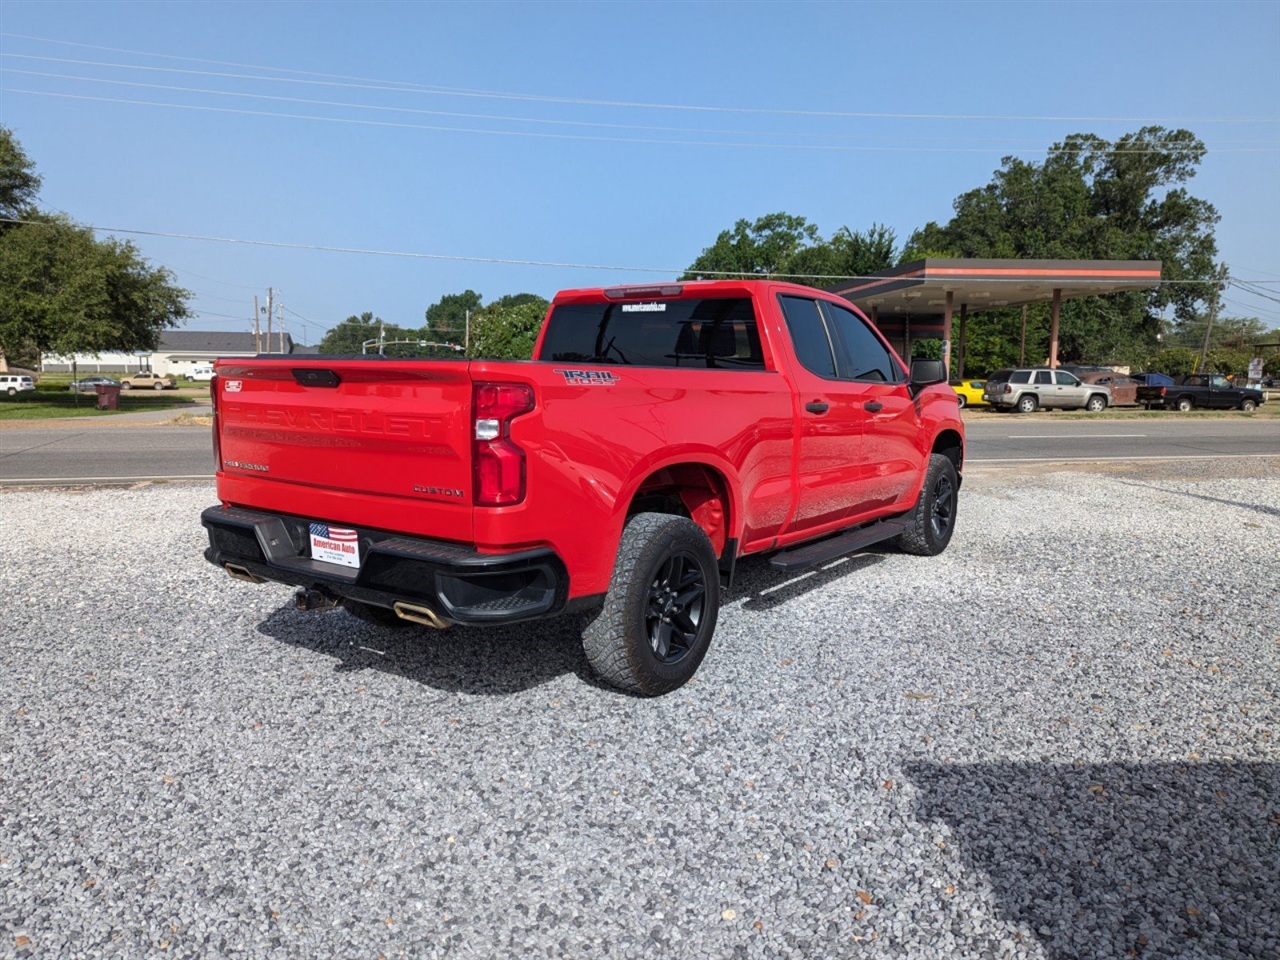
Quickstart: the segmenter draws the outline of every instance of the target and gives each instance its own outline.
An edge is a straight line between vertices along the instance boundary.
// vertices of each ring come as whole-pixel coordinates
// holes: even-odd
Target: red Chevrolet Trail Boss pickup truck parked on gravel
[[[220,360],[206,558],[383,623],[598,611],[594,669],[701,663],[735,563],[951,539],[964,426],[846,301],[787,283],[566,291],[531,361]]]

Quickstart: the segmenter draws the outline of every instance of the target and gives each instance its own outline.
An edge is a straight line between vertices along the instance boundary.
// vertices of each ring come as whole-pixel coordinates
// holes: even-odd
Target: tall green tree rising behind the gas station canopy
[[[1114,142],[1071,134],[1043,163],[1005,157],[987,186],[956,198],[946,225],[928,223],[913,233],[904,256],[1158,259],[1164,279],[1179,283],[1064,303],[1059,356],[1103,361],[1152,353],[1160,312],[1172,306],[1175,317],[1189,321],[1215,291],[1219,215],[1183,186],[1203,155],[1204,145],[1183,129],[1143,127]],[[1028,360],[1046,352],[1044,315],[1032,310]],[[1016,361],[1009,355],[1016,353],[1020,325],[1020,310],[973,317],[966,369]],[[988,337],[973,337],[984,328]],[[1004,344],[1000,356],[975,348],[983,339]]]

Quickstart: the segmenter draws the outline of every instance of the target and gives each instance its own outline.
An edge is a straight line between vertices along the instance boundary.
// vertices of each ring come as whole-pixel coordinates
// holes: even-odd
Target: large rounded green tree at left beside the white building
[[[155,349],[188,316],[187,291],[128,242],[99,241],[67,218],[0,234],[0,355]]]

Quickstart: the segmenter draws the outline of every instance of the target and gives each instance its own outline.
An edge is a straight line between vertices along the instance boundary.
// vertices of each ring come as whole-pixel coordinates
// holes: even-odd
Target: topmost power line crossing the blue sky
[[[375,90],[397,90],[402,92],[411,93],[428,93],[435,96],[466,96],[466,97],[484,97],[494,100],[517,100],[526,102],[539,102],[539,104],[572,104],[577,106],[613,106],[613,108],[626,108],[626,109],[643,109],[643,110],[686,110],[698,113],[733,113],[733,114],[763,114],[774,116],[820,116],[820,118],[850,118],[850,119],[892,119],[892,120],[1000,120],[1000,122],[1036,122],[1036,123],[1280,123],[1280,116],[1019,116],[1019,115],[991,115],[991,114],[914,114],[914,113],[884,113],[884,111],[847,111],[847,110],[785,110],[776,108],[760,108],[760,106],[709,106],[701,104],[660,104],[660,102],[640,102],[630,100],[594,100],[588,97],[553,97],[541,96],[534,93],[513,93],[506,91],[492,91],[492,90],[468,90],[463,87],[443,87],[436,84],[422,84],[412,83],[408,81],[384,81],[369,77],[349,77],[344,74],[333,73],[317,73],[314,70],[293,70],[280,67],[260,67],[256,64],[243,64],[227,60],[205,60],[200,58],[179,56],[174,54],[152,54],[143,50],[123,50],[119,47],[105,47],[96,46],[92,44],[78,44],[74,41],[52,40],[49,37],[35,37],[22,33],[0,33],[0,36],[12,37],[14,40],[32,40],[36,42],[45,44],[61,44],[67,46],[78,46],[93,50],[104,50],[118,54],[129,54],[132,56],[152,56],[163,58],[166,60],[178,60],[186,63],[205,63],[219,67],[233,67],[236,69],[248,69],[248,70],[271,70],[276,73],[294,73],[300,74],[300,78],[289,77],[266,77],[266,78],[246,78],[246,79],[276,79],[282,82],[293,83],[311,83],[320,86],[364,86],[371,84]],[[45,59],[55,60],[61,63],[86,63],[91,64],[93,61],[72,60],[72,59],[59,59],[59,58],[28,58],[28,59]],[[200,73],[197,70],[180,70],[177,68],[163,68],[163,67],[145,67],[145,65],[125,65],[125,64],[97,64],[105,67],[123,67],[127,69],[147,69],[147,70],[165,70],[179,72],[179,73]],[[206,72],[209,76],[221,76],[221,77],[234,77],[236,74],[227,73],[214,73]],[[301,79],[301,77],[320,77],[320,79]]]

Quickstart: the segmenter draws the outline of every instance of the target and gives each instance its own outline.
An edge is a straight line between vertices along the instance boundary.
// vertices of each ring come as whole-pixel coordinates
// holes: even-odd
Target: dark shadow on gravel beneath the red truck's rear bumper
[[[582,653],[582,630],[590,620],[572,614],[506,627],[433,630],[379,627],[343,609],[307,613],[280,607],[257,630],[333,657],[335,671],[378,669],[448,692],[503,695],[564,673],[602,686]]]

